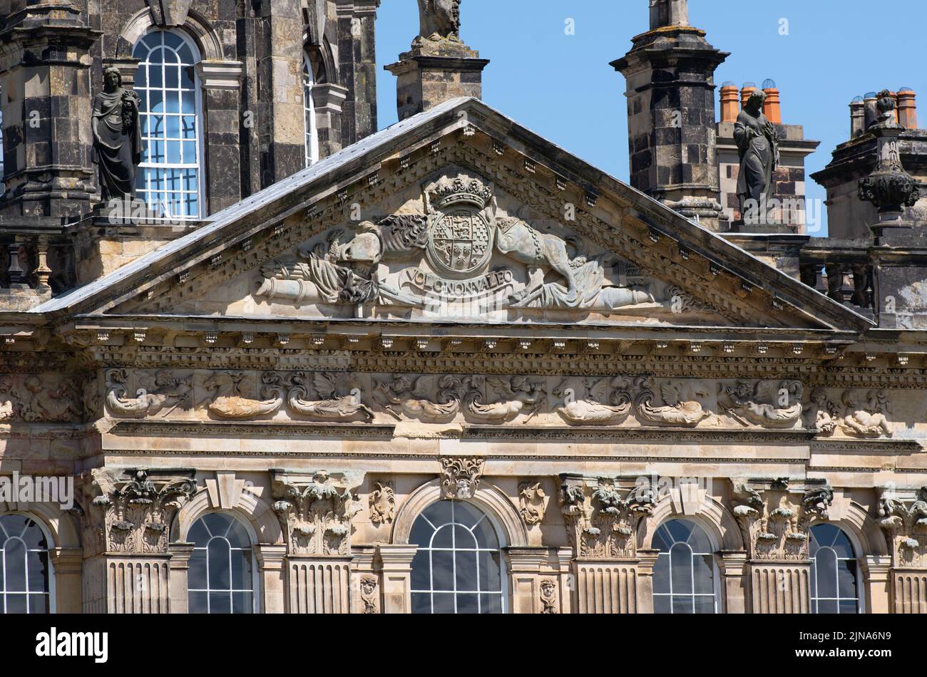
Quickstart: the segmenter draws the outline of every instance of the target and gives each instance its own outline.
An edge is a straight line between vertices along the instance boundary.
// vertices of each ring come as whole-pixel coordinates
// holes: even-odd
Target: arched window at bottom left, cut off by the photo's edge
[[[0,517],[0,613],[48,613],[48,543],[23,515]]]

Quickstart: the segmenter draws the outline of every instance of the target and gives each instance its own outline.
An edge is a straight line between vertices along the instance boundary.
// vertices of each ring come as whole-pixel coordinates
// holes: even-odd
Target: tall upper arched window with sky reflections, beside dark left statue
[[[142,100],[145,153],[137,193],[165,219],[201,219],[202,124],[197,48],[179,31],[151,31],[133,52],[141,59],[135,92]]]

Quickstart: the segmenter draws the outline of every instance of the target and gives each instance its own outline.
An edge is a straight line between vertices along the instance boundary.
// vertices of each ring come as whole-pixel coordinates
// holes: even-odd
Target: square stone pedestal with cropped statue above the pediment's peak
[[[421,30],[412,49],[384,68],[396,76],[396,107],[400,120],[458,96],[481,98],[483,69],[479,58],[460,37],[461,0],[418,0]]]

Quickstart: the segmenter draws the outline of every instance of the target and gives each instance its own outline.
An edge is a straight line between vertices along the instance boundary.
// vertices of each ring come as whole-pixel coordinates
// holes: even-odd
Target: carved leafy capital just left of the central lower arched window
[[[354,491],[362,479],[349,472],[271,470],[273,510],[283,524],[291,554],[350,554],[350,520],[361,509]]]

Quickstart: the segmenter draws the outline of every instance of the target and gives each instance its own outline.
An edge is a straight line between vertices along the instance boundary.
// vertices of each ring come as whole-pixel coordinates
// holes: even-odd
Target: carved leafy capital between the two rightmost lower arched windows
[[[756,560],[808,557],[808,529],[813,520],[828,520],[833,489],[824,481],[732,481],[731,509],[749,556]]]

